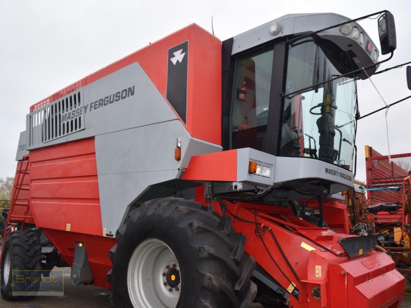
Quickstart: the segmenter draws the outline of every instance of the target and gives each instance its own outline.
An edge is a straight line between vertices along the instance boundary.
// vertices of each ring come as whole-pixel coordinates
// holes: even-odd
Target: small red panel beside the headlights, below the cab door
[[[237,150],[192,157],[183,180],[237,181]]]

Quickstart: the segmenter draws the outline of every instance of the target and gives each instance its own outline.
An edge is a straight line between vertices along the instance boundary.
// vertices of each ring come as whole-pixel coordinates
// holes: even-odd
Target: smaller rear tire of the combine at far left
[[[30,275],[39,275],[33,271],[40,271],[42,248],[40,239],[31,230],[18,230],[6,237],[2,251],[2,268],[0,270],[0,291],[6,300],[31,298],[32,296],[13,296],[12,273],[15,270],[30,271]],[[15,287],[14,291],[35,292],[38,284],[28,285],[24,290]]]

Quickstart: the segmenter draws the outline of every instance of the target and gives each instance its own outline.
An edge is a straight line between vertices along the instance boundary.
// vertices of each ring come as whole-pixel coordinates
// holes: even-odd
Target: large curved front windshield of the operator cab
[[[289,45],[279,154],[320,159],[352,170],[356,80],[341,73],[312,38]]]

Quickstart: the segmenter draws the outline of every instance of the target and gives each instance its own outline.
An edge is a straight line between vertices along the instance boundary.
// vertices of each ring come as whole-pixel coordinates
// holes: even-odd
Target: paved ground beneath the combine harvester
[[[1,308],[110,308],[110,291],[91,285],[72,286],[70,268],[65,267],[64,296],[38,296],[30,300],[5,301],[0,296]],[[375,307],[377,308],[377,307]],[[411,308],[411,295],[405,296],[401,308]]]

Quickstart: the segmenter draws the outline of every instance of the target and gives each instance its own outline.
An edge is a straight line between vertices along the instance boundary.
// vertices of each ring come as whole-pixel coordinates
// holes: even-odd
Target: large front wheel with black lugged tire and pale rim
[[[183,199],[145,202],[116,234],[107,275],[116,307],[248,307],[255,261],[229,217]]]

